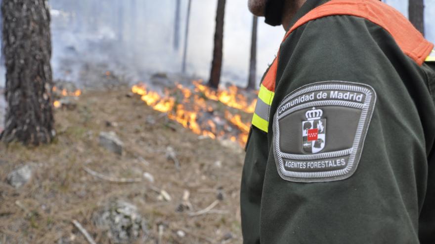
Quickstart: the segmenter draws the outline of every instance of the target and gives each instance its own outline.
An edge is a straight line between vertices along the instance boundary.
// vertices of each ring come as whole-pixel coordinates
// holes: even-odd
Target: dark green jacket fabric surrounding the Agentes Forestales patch
[[[306,1],[291,26],[325,2]],[[364,18],[327,16],[296,29],[281,44],[268,133],[253,126],[246,147],[244,243],[434,244],[434,70],[431,62],[418,65],[389,32]],[[289,94],[323,81],[358,83],[376,95],[367,104],[373,108],[357,167],[345,178],[286,180],[274,155],[273,115]],[[332,120],[326,120],[327,134],[346,125]]]

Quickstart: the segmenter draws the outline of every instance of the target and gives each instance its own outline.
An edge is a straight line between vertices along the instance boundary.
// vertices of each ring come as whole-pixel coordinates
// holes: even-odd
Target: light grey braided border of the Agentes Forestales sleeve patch
[[[288,101],[304,94],[307,92],[316,92],[323,90],[341,90],[341,91],[349,91],[349,92],[359,92],[365,94],[364,103],[355,103],[350,101],[341,101],[341,100],[322,100],[322,101],[314,101],[304,103],[302,105],[296,105],[283,114],[279,115],[278,110],[279,107],[286,104]],[[329,182],[329,181],[337,181],[344,180],[350,177],[358,167],[358,163],[361,157],[362,149],[364,147],[365,137],[367,135],[368,127],[370,126],[370,121],[372,119],[374,106],[376,104],[376,92],[373,87],[356,82],[348,82],[348,81],[321,81],[311,83],[305,86],[302,86],[295,91],[291,92],[287,95],[283,101],[278,105],[276,112],[273,116],[273,137],[272,137],[272,147],[273,147],[273,155],[275,158],[275,164],[277,167],[278,174],[284,180],[292,181],[292,182]],[[316,153],[316,154],[289,154],[284,153],[280,150],[279,145],[279,126],[277,121],[290,113],[295,111],[299,111],[309,107],[318,107],[318,106],[346,106],[346,107],[354,107],[361,109],[361,116],[358,121],[358,127],[355,133],[355,137],[353,139],[352,147],[340,151],[333,152],[324,152],[324,153]],[[318,159],[327,159],[341,156],[349,156],[348,165],[345,169],[335,170],[335,171],[323,171],[323,172],[295,172],[295,171],[287,171],[284,168],[283,157],[286,159],[293,160],[318,160]]]

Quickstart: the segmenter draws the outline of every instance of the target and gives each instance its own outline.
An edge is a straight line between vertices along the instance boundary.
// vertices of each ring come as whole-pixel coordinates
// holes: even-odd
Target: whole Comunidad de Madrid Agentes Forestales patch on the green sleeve
[[[273,119],[279,175],[294,182],[343,180],[356,170],[376,103],[372,87],[344,81],[297,89]]]

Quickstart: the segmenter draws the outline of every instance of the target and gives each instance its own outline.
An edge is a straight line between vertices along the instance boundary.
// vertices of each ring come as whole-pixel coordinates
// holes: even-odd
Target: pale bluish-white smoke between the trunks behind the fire
[[[90,62],[105,63],[107,69],[128,73],[135,80],[146,79],[146,75],[154,72],[181,70],[187,0],[181,0],[178,50],[173,45],[174,0],[52,0],[50,4],[54,78],[77,80],[80,67]],[[212,61],[216,6],[216,0],[192,1],[187,72],[204,79],[208,79]],[[246,85],[251,25],[252,15],[246,2],[228,0],[223,81]],[[261,23],[258,32],[260,82],[284,31]]]

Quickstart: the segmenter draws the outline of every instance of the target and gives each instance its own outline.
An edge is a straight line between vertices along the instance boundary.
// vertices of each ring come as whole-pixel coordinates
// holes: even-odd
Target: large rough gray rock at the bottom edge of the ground
[[[147,237],[146,220],[137,207],[123,200],[110,200],[93,213],[97,228],[107,233],[111,243],[133,243]]]

